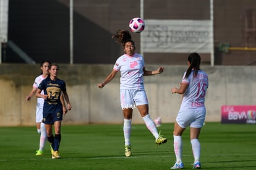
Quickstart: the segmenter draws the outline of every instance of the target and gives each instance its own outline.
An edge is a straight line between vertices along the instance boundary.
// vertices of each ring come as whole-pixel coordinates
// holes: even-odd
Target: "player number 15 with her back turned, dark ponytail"
[[[200,130],[205,121],[205,95],[208,88],[208,75],[200,69],[201,57],[197,53],[189,54],[187,71],[184,73],[179,88],[172,88],[172,93],[182,95],[182,104],[177,114],[173,130],[173,145],[176,163],[171,169],[182,169],[182,134],[190,126],[190,143],[194,155],[193,169],[200,169]]]

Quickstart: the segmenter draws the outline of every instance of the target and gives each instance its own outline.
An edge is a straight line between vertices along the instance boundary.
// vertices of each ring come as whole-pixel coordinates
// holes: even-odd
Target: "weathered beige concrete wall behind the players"
[[[148,65],[155,70],[158,66]],[[72,111],[64,116],[64,124],[121,124],[123,121],[119,101],[119,74],[100,89],[113,65],[68,65],[60,64],[59,78],[66,81]],[[146,76],[150,116],[161,116],[163,122],[174,122],[181,95],[171,94],[178,87],[187,66],[164,66],[164,73]],[[221,106],[254,105],[256,103],[255,66],[202,66],[209,76],[206,96],[207,122],[221,121]],[[36,98],[25,101],[32,89],[35,77],[40,74],[39,65],[0,65],[0,126],[34,125]],[[143,123],[137,109],[134,123]]]

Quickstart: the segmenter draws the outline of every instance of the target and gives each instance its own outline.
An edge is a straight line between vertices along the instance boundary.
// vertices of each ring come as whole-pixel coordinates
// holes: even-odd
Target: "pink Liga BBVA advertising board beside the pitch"
[[[256,124],[256,105],[221,106],[221,123]]]

